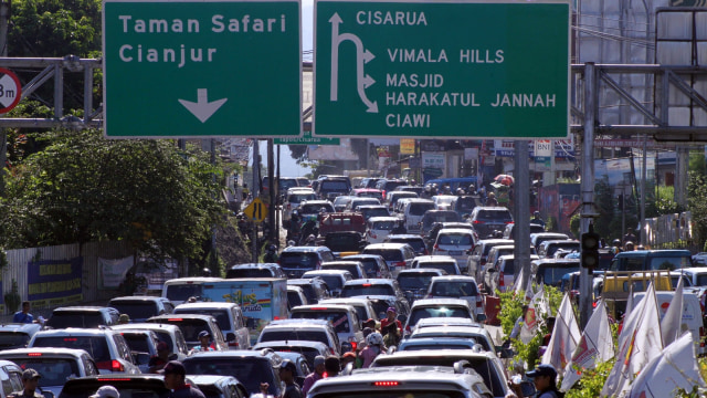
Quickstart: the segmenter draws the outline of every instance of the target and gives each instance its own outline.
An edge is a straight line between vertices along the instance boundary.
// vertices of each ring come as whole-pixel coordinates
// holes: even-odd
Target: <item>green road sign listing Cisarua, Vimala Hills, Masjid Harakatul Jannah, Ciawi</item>
[[[570,4],[315,0],[313,132],[567,137]]]

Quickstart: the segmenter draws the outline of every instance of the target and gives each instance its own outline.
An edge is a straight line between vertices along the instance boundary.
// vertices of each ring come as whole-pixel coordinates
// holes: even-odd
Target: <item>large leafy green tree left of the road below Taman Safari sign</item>
[[[101,130],[45,139],[8,177],[7,249],[127,240],[154,258],[196,258],[222,219],[218,170],[203,154],[180,154],[167,139],[107,140]]]

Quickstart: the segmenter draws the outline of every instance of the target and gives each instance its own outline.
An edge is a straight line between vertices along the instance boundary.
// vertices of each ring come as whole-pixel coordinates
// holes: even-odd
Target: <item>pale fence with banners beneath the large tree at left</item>
[[[2,294],[0,296],[11,292],[13,282],[17,282],[20,298],[32,302],[32,313],[35,316],[46,314],[51,308],[61,304],[107,302],[116,295],[117,291],[99,289],[102,275],[98,258],[123,259],[129,255],[135,255],[134,249],[124,241],[8,250],[8,266],[1,272]],[[62,274],[70,274],[76,264],[80,264],[80,277],[75,275],[66,283],[59,281],[60,284],[55,284],[57,280],[62,279]],[[54,280],[54,282],[34,283],[38,277]],[[33,282],[32,286],[30,286],[31,281]],[[62,295],[62,289],[72,292],[72,294]],[[46,300],[32,300],[31,297],[43,294],[55,295],[55,297]],[[4,301],[3,304],[4,313],[12,313],[13,308],[7,307]]]

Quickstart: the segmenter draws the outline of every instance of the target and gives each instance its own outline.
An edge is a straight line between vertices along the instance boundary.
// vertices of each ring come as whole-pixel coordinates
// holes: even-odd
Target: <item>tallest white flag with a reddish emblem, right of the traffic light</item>
[[[651,283],[643,300],[635,304],[624,321],[616,363],[601,390],[602,397],[625,397],[636,375],[651,359],[661,355],[663,339],[656,325],[659,325],[658,306],[655,287]]]

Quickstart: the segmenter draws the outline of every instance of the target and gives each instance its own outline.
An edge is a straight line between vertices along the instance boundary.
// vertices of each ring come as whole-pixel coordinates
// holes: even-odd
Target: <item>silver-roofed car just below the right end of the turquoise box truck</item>
[[[263,327],[257,344],[282,341],[319,342],[329,348],[329,354],[341,355],[339,337],[329,321],[277,320]]]

